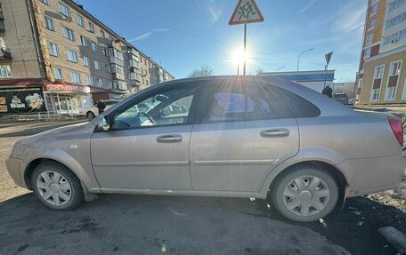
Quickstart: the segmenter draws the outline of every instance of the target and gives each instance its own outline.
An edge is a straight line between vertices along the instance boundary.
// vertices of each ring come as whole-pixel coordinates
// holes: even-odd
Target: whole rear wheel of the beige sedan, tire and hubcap
[[[270,187],[271,202],[276,210],[287,219],[301,222],[327,216],[336,207],[338,195],[336,180],[313,164],[282,171]]]

